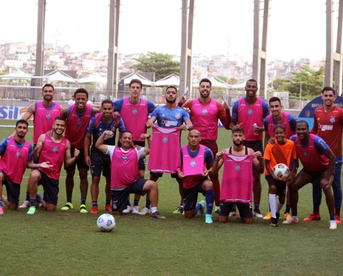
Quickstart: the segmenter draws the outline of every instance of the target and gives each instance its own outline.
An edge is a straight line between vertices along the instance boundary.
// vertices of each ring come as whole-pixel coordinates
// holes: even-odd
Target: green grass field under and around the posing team
[[[13,124],[0,120],[0,124]],[[32,124],[32,123],[31,123]],[[2,128],[1,137],[13,132]],[[231,133],[220,129],[220,149],[232,144]],[[1,139],[2,139],[1,138]],[[27,140],[32,140],[30,129]],[[186,138],[182,137],[183,144]],[[25,196],[29,170],[22,188]],[[149,173],[146,172],[149,177]],[[1,275],[342,275],[342,225],[329,230],[329,214],[322,198],[321,221],[304,222],[312,212],[311,184],[299,192],[299,223],[272,228],[269,221],[254,219],[252,225],[229,218],[229,223],[205,225],[204,216],[187,220],[173,214],[179,204],[178,185],[169,175],[159,179],[158,209],[166,220],[150,216],[116,216],[116,228],[102,233],[98,215],[80,214],[79,180],[75,176],[74,209],[61,211],[66,202],[62,170],[56,212],[38,209],[10,211],[0,217]],[[262,179],[261,211],[268,211],[268,184]],[[90,173],[88,176],[91,184]],[[104,206],[104,181],[100,182],[99,209]],[[42,187],[38,191],[42,194]],[[4,188],[5,194],[5,188]],[[199,194],[199,200],[202,195]],[[131,196],[133,200],[133,196]],[[141,198],[143,208],[145,197]],[[91,210],[88,189],[87,208]],[[284,209],[282,210],[283,213]]]

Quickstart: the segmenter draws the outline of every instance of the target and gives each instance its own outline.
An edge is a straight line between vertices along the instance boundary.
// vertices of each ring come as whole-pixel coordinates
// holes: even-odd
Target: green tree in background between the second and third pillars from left
[[[170,74],[180,74],[180,63],[173,61],[173,55],[148,52],[146,57],[135,58],[139,64],[131,66],[135,71],[154,72],[155,80],[162,79]]]

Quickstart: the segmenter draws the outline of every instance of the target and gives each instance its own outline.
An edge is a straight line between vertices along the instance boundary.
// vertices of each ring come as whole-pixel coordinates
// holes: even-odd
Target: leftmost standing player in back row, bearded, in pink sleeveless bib
[[[58,103],[53,102],[55,96],[55,89],[52,84],[47,83],[42,88],[43,101],[31,104],[24,115],[23,120],[28,120],[33,117],[33,148],[37,144],[38,137],[51,130],[52,124],[57,116],[60,116],[63,111],[63,107]],[[14,136],[13,133],[12,136]],[[37,195],[39,198],[40,196]],[[25,201],[19,208],[30,207],[30,196],[28,193],[28,186],[26,185],[26,197]]]

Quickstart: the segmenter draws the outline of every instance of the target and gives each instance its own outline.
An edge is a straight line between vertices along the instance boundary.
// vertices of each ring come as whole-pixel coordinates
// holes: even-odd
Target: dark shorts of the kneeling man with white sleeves
[[[138,178],[135,182],[122,190],[111,190],[112,212],[119,212],[127,207],[129,194],[139,194],[144,196],[147,191],[143,187],[147,179]]]

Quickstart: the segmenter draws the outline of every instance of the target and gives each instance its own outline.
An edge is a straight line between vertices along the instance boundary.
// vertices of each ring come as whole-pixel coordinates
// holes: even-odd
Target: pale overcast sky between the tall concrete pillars
[[[1,0],[0,42],[36,43],[37,2]],[[180,55],[180,0],[120,2],[119,52]],[[268,61],[325,59],[325,2],[270,1]],[[229,53],[230,60],[235,54],[252,60],[253,0],[196,0],[195,5],[193,54]],[[338,4],[334,4],[335,26],[337,10]],[[45,42],[57,40],[59,46],[70,45],[72,51],[100,50],[106,54],[108,20],[109,0],[47,0]]]

